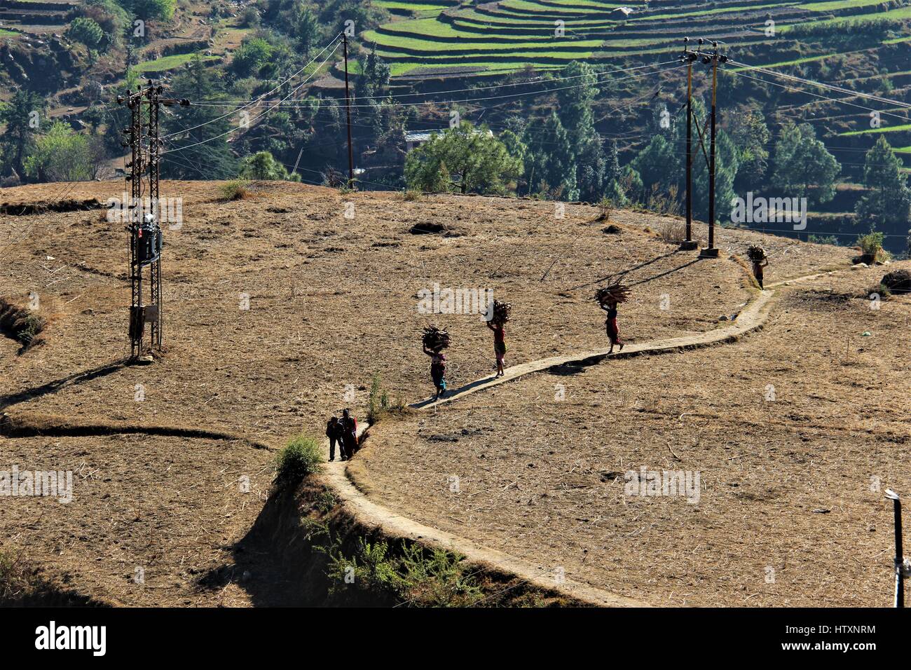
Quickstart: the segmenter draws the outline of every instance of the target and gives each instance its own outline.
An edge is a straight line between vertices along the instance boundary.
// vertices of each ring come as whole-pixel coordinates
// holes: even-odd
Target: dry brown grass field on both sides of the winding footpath
[[[162,183],[183,198],[184,222],[165,231],[165,352],[151,366],[124,365],[122,223],[98,210],[0,218],[0,297],[37,295],[48,322],[22,353],[0,337],[0,411],[33,433],[0,436],[0,464],[78,473],[69,504],[5,499],[0,551],[104,602],[261,602],[255,570],[218,588],[202,577],[233,562],[268,495],[274,449],[322,435],[342,407],[363,418],[374,373],[392,397],[426,397],[424,325],[453,335],[451,386],[493,371],[480,317],[419,314],[421,289],[488,288],[512,303],[507,365],[604,346],[591,295],[609,275],[634,284],[620,317],[629,342],[711,330],[756,293],[740,264],[677,252],[658,234],[670,220],[647,213],[599,221],[597,208],[567,205],[558,218],[553,202],[406,201],[290,183],[220,201],[219,186]],[[3,191],[0,204],[121,191],[30,186]],[[762,238],[767,283],[852,255],[719,237],[725,256]],[[870,477],[904,490],[911,481],[908,299],[874,313],[856,297],[882,273],[783,287],[770,324],[734,345],[537,374],[389,419],[354,475],[417,521],[546,555],[568,576],[650,603],[885,602],[891,526]],[[610,475],[630,463],[701,470],[701,502],[624,497]],[[461,479],[455,497],[450,475]]]

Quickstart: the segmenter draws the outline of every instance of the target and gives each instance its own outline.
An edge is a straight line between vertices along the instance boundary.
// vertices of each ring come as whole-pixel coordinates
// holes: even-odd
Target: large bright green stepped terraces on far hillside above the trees
[[[379,0],[393,18],[361,38],[376,46],[397,77],[485,75],[528,66],[555,69],[580,59],[596,64],[655,60],[655,55],[679,51],[683,36],[722,40],[728,48],[773,46],[793,26],[909,19],[911,6],[904,2]],[[775,34],[766,35],[771,26]]]

